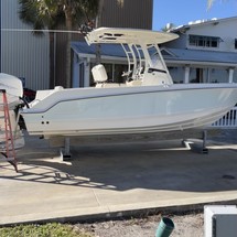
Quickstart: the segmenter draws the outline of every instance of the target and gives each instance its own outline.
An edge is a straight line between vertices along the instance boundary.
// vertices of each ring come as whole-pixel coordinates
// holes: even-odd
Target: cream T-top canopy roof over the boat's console
[[[161,44],[177,39],[177,34],[126,28],[99,28],[86,35],[88,44]]]

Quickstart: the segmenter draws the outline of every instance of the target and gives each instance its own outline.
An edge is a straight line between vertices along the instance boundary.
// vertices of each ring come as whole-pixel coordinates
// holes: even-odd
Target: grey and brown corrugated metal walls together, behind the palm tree
[[[1,1],[2,29],[28,29],[30,26],[19,20],[18,0]],[[117,0],[105,0],[103,25],[120,28],[152,28],[153,0],[125,0],[123,8]],[[77,30],[77,29],[76,29]],[[65,86],[65,39],[66,33],[55,33],[55,74],[50,83],[50,41],[45,33],[35,37],[31,32],[1,32],[2,73],[25,78],[25,86],[32,89],[46,89],[50,86]],[[73,40],[78,40],[73,34]]]

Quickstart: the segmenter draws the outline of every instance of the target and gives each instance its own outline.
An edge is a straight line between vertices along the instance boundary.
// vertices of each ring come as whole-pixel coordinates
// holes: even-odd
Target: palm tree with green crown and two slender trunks
[[[80,25],[84,21],[95,19],[98,11],[98,0],[19,0],[20,19],[31,24],[34,30],[54,30],[65,25],[67,31],[66,43],[66,87],[71,87],[71,41],[74,25]],[[54,34],[50,31],[50,40]],[[51,52],[52,52],[51,43]],[[51,55],[51,79],[53,79]]]

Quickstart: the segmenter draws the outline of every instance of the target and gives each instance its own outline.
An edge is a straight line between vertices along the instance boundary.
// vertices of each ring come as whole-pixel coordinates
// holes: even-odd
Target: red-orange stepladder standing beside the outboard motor
[[[18,161],[15,158],[14,140],[12,134],[11,118],[9,114],[9,104],[6,89],[0,89],[0,94],[2,94],[2,109],[4,119],[4,128],[1,128],[4,137],[4,146],[1,148],[0,152],[4,157],[3,160],[12,164],[14,170],[18,172]]]

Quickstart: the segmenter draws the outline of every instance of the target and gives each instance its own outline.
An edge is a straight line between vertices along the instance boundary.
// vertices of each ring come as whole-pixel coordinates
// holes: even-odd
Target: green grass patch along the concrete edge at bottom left
[[[0,228],[1,237],[91,237],[72,225],[49,223],[45,225],[19,225]]]

